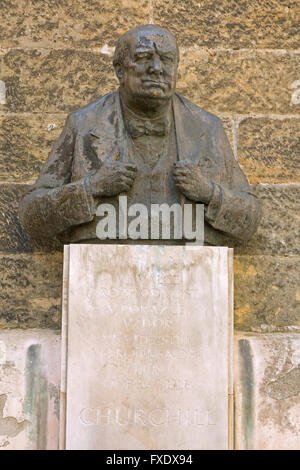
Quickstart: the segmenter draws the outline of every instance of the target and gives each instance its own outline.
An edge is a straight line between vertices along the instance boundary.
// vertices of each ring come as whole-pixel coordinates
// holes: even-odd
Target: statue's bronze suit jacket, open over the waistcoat
[[[205,244],[224,245],[224,236],[247,240],[256,231],[260,206],[219,118],[178,93],[173,97],[173,116],[177,159],[199,164],[215,183],[205,207]],[[118,155],[121,161],[128,161],[126,141],[118,91],[71,113],[38,180],[20,203],[20,220],[26,231],[40,238],[70,229],[71,242],[100,242],[96,205],[110,202],[110,198],[95,200],[87,177],[107,158]]]

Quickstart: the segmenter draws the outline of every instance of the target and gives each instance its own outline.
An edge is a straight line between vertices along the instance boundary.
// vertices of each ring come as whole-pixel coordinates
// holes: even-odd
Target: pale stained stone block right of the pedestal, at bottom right
[[[300,450],[300,335],[235,340],[235,448]]]

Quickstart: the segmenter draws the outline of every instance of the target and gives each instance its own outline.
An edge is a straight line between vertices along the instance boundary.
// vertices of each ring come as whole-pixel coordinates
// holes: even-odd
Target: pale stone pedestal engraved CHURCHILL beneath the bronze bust
[[[232,446],[232,250],[65,249],[60,447]]]

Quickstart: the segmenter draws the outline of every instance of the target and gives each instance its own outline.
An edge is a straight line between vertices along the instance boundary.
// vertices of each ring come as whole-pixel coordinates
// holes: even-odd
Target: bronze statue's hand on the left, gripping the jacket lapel
[[[93,196],[116,196],[128,191],[136,177],[135,163],[106,160],[101,168],[91,176],[90,184]]]

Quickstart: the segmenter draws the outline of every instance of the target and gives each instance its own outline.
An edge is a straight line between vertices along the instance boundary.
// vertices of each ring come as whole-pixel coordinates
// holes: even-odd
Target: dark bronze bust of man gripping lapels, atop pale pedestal
[[[33,237],[68,233],[96,239],[101,201],[202,203],[205,243],[249,239],[259,201],[235,160],[220,119],[175,92],[179,50],[173,34],[136,27],[116,45],[120,87],[71,113],[39,178],[20,203]]]

